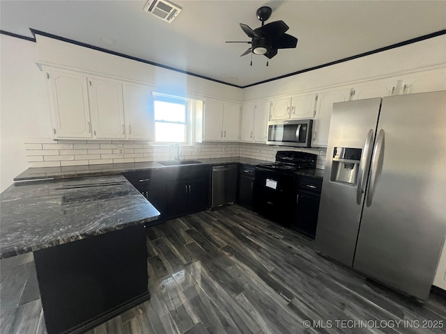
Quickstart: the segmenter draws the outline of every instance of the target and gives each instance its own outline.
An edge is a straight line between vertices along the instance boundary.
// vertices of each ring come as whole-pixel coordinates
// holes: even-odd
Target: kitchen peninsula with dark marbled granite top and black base
[[[159,212],[122,175],[3,191],[0,258],[33,252],[47,333],[83,333],[149,299],[144,226]]]

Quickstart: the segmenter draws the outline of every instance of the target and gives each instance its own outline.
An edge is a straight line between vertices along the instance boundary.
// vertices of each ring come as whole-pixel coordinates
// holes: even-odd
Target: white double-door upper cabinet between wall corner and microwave
[[[240,141],[266,143],[270,102],[245,104],[242,108]]]

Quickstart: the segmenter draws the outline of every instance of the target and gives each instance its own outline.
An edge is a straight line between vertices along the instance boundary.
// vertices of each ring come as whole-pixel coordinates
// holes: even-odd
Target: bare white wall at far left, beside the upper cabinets
[[[28,168],[24,137],[50,137],[49,107],[36,43],[0,35],[0,191]]]

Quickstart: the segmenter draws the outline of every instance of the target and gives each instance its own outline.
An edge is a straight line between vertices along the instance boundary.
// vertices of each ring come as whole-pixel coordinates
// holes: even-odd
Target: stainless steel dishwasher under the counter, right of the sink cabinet
[[[236,201],[238,165],[212,168],[212,207]]]

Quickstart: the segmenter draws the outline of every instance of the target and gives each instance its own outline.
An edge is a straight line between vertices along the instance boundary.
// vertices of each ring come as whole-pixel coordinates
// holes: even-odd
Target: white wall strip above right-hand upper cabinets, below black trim
[[[446,35],[243,89],[243,101],[262,100],[353,81],[392,77],[446,64]]]

